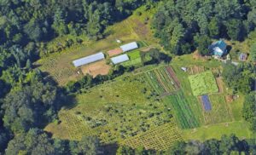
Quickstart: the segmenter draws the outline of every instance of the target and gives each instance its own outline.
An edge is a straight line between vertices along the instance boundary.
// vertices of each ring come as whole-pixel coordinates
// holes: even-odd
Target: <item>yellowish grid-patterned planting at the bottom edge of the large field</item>
[[[146,149],[167,150],[174,142],[182,140],[176,123],[172,122],[148,130],[142,135],[129,138],[121,144],[132,148],[144,146]]]

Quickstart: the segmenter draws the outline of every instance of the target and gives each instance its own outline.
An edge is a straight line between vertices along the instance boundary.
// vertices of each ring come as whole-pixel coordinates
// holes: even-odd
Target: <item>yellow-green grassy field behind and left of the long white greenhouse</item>
[[[157,40],[153,37],[153,33],[150,30],[151,18],[155,10],[149,9],[144,11],[144,9],[145,7],[137,9],[137,11],[143,12],[140,16],[135,13],[126,20],[109,26],[105,31],[106,38],[99,41],[92,41],[83,37],[84,42],[82,44],[65,49],[61,53],[50,54],[38,60],[35,65],[39,66],[43,72],[49,72],[49,75],[53,77],[57,83],[65,85],[69,81],[81,78],[81,76],[77,74],[77,69],[72,64],[73,60],[100,51],[107,52],[110,49],[116,49],[120,46],[119,43],[116,43],[117,38],[123,43],[138,41],[139,44],[143,43],[143,45],[157,44]],[[149,20],[145,24],[144,20],[146,18]],[[70,38],[70,36],[68,36],[68,38]],[[66,38],[57,37],[49,44],[59,43],[62,39]]]

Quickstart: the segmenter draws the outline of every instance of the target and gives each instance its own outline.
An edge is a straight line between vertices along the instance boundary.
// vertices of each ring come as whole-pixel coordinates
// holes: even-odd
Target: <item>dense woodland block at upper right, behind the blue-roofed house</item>
[[[165,1],[154,15],[154,35],[174,55],[197,48],[206,55],[211,38],[244,40],[256,26],[255,14],[255,0]]]

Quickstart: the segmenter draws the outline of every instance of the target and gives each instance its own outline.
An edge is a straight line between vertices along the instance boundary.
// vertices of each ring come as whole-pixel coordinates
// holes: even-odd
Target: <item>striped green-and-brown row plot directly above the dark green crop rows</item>
[[[158,95],[168,95],[179,89],[177,78],[172,78],[172,72],[169,67],[161,67],[149,72],[145,72],[148,83]]]

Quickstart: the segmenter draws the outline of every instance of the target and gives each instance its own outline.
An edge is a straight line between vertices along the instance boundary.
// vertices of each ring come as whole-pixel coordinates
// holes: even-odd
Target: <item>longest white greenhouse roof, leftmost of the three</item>
[[[97,53],[96,55],[90,55],[90,56],[81,58],[79,60],[73,60],[73,65],[75,67],[83,66],[83,65],[90,64],[92,62],[96,62],[97,60],[102,60],[102,59],[105,59],[105,56],[102,52],[100,52],[100,53]]]

